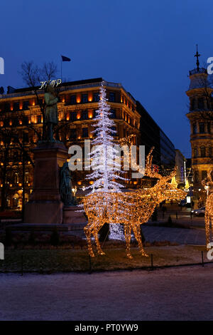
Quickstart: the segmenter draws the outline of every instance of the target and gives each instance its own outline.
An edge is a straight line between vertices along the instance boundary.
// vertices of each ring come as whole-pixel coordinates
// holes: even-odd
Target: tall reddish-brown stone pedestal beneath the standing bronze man
[[[59,173],[67,160],[67,148],[63,143],[39,143],[33,153],[33,192],[26,204],[24,222],[62,224]]]

